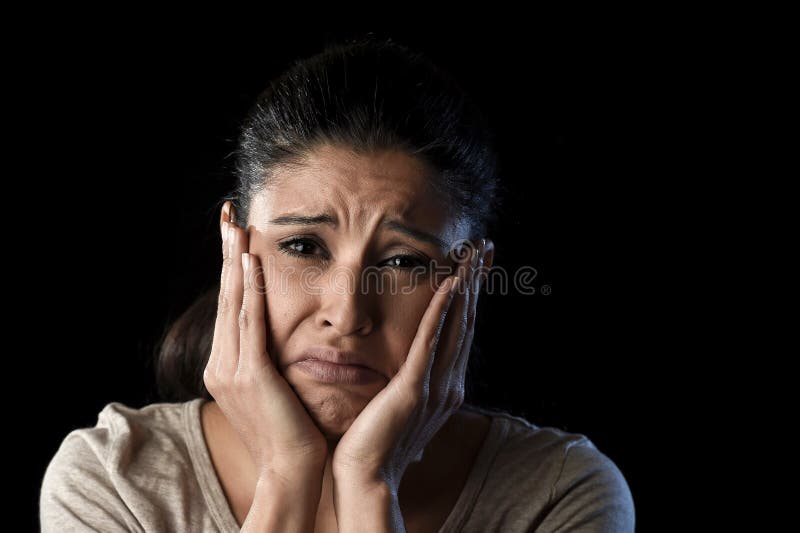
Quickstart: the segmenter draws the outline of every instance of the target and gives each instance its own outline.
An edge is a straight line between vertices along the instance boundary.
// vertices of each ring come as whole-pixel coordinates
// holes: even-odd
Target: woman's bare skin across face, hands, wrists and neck
[[[277,509],[276,493],[298,484],[303,496],[292,505],[311,507],[315,516],[312,522],[293,517],[300,530],[336,530],[337,522],[342,529],[435,529],[455,503],[488,429],[486,417],[459,407],[477,304],[476,268],[491,266],[493,244],[485,239],[470,267],[453,262],[447,247],[380,226],[384,218],[402,219],[448,246],[469,236],[465,221],[451,216],[429,188],[425,168],[402,152],[364,156],[321,146],[302,165],[279,172],[253,198],[246,231],[229,224],[235,216],[229,204],[220,218],[225,262],[204,375],[217,401],[204,406],[203,425],[232,509],[240,523],[250,510],[247,520],[252,515],[255,523],[257,514]],[[320,213],[329,213],[336,225],[271,223]],[[301,237],[308,240],[289,248],[306,255],[281,252],[281,243]],[[249,255],[242,259],[242,252]],[[440,292],[452,277],[426,274],[412,283],[409,269],[389,266],[401,255],[411,256],[405,260],[411,266],[435,261],[457,267],[461,281]],[[342,275],[375,266],[409,290],[360,291],[357,278]],[[318,273],[317,291],[308,290],[308,278],[304,284],[300,275],[309,268]],[[258,283],[248,283],[254,279]],[[334,279],[344,290],[331,288]],[[366,354],[382,378],[322,383],[293,364],[311,346]],[[442,479],[453,481],[446,486]],[[428,524],[415,513],[413,497],[426,489],[430,498],[447,495],[439,498],[438,514],[428,505]],[[401,491],[413,495],[404,497],[402,509]],[[261,501],[273,501],[272,507]],[[425,501],[420,498],[418,507]],[[243,530],[254,523],[244,523]]]

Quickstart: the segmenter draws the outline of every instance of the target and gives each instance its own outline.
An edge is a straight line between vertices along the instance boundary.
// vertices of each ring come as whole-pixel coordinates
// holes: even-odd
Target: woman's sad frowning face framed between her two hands
[[[455,265],[450,246],[468,227],[448,214],[422,165],[399,151],[361,156],[326,145],[277,177],[253,198],[247,220],[265,276],[267,350],[320,429],[337,438],[405,361]],[[321,377],[298,364],[312,348],[354,352],[372,372]]]

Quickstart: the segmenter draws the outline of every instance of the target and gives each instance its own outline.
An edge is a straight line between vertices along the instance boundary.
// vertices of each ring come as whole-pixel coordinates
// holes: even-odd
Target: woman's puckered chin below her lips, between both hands
[[[354,390],[320,383],[292,384],[300,402],[328,440],[338,440],[380,389]]]

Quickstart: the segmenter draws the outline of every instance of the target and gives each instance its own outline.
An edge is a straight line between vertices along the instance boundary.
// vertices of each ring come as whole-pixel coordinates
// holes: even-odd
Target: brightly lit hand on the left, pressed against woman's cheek
[[[203,381],[250,451],[259,478],[321,476],[327,441],[267,354],[265,295],[259,290],[265,273],[246,253],[247,233],[230,216],[223,215],[221,229],[217,319]]]

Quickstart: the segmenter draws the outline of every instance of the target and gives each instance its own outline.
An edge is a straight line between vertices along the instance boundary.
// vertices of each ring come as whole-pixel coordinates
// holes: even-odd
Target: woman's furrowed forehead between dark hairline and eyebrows
[[[455,224],[425,165],[401,151],[362,155],[324,145],[302,164],[279,169],[276,178],[253,201],[256,224],[284,214],[321,213],[355,226],[387,215],[435,231]]]

